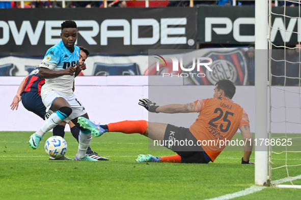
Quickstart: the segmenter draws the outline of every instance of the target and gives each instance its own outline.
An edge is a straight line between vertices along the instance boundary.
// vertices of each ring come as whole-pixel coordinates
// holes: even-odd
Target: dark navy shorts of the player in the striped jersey
[[[23,92],[21,99],[26,110],[35,113],[45,120],[46,107],[42,102],[42,97],[37,92]]]

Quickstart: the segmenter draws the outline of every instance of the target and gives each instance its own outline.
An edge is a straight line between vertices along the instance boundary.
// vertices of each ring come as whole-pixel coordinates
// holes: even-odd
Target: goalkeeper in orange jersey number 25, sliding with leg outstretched
[[[140,99],[139,105],[153,113],[199,113],[198,118],[189,128],[145,120],[96,125],[86,118],[79,117],[78,122],[84,128],[91,130],[92,134],[100,132],[99,135],[95,135],[96,137],[102,135],[103,132],[139,133],[177,153],[177,155],[165,157],[139,155],[136,159],[138,162],[213,162],[239,128],[242,139],[245,141],[241,163],[249,164],[252,163],[250,156],[253,149],[253,136],[248,114],[232,101],[235,90],[233,82],[223,79],[215,84],[213,98],[165,106],[157,106],[149,99]]]

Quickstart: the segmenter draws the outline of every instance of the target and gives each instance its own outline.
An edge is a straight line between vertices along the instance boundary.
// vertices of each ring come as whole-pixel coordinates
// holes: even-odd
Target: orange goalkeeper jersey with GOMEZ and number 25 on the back
[[[212,162],[227,146],[226,140],[230,141],[240,126],[250,126],[248,114],[225,96],[201,99],[192,104],[200,114],[189,130],[202,142]],[[224,142],[220,147],[221,140]]]

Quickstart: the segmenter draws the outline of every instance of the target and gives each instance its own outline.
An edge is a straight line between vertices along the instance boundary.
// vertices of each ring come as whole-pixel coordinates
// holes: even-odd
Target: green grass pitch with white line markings
[[[91,143],[94,151],[110,161],[53,161],[44,151],[51,132],[36,150],[28,144],[31,134],[0,132],[0,199],[207,199],[254,185],[254,165],[240,164],[242,152],[222,152],[209,164],[137,163],[139,154],[174,153],[149,152],[146,137],[113,132],[93,138]],[[70,132],[65,139],[66,156],[74,158],[78,144]],[[284,163],[283,155],[277,160]],[[300,155],[289,155],[289,161],[301,163]],[[300,175],[300,168],[292,168],[290,173]],[[281,169],[273,179],[284,178],[285,173]],[[299,199],[300,191],[266,188],[236,199]]]

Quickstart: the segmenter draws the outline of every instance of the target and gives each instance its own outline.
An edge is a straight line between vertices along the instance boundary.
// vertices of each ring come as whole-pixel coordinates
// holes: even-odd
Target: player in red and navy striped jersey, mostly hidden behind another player
[[[84,48],[84,47],[79,47],[80,48],[80,59],[79,61],[85,61],[87,57],[89,56],[90,52]],[[39,66],[37,66],[31,73],[30,75],[26,76],[23,81],[21,82],[17,94],[14,97],[14,100],[11,104],[11,109],[18,109],[19,102],[22,99],[22,105],[24,108],[28,111],[31,111],[41,117],[43,120],[45,118],[48,118],[50,112],[46,113],[46,107],[44,106],[41,98],[41,88],[45,83],[45,79],[40,79],[38,74],[39,74]],[[79,128],[76,127],[71,121],[68,123],[70,126],[71,134],[72,136],[77,140],[78,142],[78,135],[79,135]],[[65,125],[66,122],[62,121],[59,125],[53,128],[53,136],[61,136],[64,138],[65,136]],[[96,152],[92,151],[90,146],[88,147],[87,154],[95,158],[97,160],[108,160],[105,157],[102,157],[98,155]],[[49,157],[49,160],[53,160],[54,158]],[[73,160],[70,158],[67,158],[65,156],[61,158],[56,158],[54,160]]]

